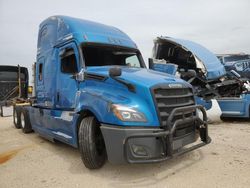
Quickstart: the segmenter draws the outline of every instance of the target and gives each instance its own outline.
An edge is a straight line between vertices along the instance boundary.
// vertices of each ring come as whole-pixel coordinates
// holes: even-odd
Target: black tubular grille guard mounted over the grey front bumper
[[[182,119],[178,119],[174,122],[173,118],[176,113],[185,113],[187,110],[197,110],[199,109],[202,114],[203,114],[203,119],[200,119],[198,115],[193,116],[193,117],[188,117],[185,118],[183,116]],[[173,134],[177,128],[178,125],[183,124],[183,123],[190,123],[196,121],[199,125],[199,133],[200,133],[200,138],[201,138],[201,143],[198,143],[196,145],[193,145],[189,148],[183,148],[178,152],[173,152]],[[169,160],[173,157],[182,155],[184,153],[193,151],[195,149],[198,149],[204,145],[207,145],[211,142],[211,138],[208,136],[208,123],[207,123],[207,114],[206,110],[204,109],[203,106],[201,105],[193,105],[193,106],[186,106],[186,107],[178,107],[175,108],[171,114],[168,117],[167,120],[167,126],[166,130],[155,132],[155,133],[147,133],[147,134],[136,134],[136,135],[130,135],[124,139],[124,158],[127,160],[128,163],[153,163],[153,162],[161,162],[161,161],[166,161]],[[164,146],[165,146],[165,155],[160,158],[138,158],[138,159],[130,159],[128,155],[128,140],[131,138],[146,138],[146,137],[159,137],[161,138]]]

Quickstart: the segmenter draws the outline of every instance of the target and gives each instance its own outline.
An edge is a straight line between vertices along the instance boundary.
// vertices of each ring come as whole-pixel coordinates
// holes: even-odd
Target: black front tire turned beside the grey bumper
[[[90,116],[82,119],[78,131],[79,150],[88,169],[101,168],[106,161],[106,149],[97,120]]]

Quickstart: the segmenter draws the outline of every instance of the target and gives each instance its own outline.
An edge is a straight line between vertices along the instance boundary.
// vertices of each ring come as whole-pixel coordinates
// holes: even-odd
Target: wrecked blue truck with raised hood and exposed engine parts
[[[248,82],[234,70],[230,70],[229,75],[216,55],[200,44],[183,39],[158,37],[154,41],[149,68],[179,75],[189,82],[194,87],[196,101],[206,109],[211,108],[210,99],[217,99],[222,117],[249,117]],[[235,109],[232,100],[237,103],[240,101],[244,107],[237,105]],[[242,113],[238,113],[239,111]]]

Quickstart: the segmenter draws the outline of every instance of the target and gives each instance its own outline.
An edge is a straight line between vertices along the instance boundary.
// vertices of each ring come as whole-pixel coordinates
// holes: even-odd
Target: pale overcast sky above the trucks
[[[0,0],[0,64],[30,68],[38,25],[51,15],[118,27],[145,61],[161,35],[195,41],[214,53],[250,53],[249,0]]]

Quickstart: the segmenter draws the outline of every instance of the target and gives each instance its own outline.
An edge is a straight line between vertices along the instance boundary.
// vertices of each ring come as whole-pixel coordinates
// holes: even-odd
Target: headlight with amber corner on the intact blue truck
[[[138,112],[134,108],[118,104],[112,104],[111,109],[115,116],[121,121],[147,122],[147,119],[144,114]]]

